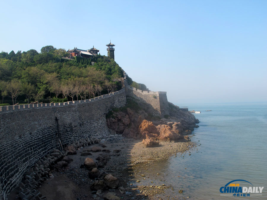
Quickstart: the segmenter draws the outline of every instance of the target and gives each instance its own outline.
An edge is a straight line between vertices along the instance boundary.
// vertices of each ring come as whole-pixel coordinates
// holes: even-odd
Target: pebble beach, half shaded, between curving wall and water
[[[142,140],[111,135],[99,144],[77,148],[76,154],[69,152],[64,160],[70,163],[56,164],[38,190],[47,199],[52,200],[154,199],[157,195],[164,194],[166,189],[171,189],[172,185],[156,185],[153,181],[149,185],[142,183],[150,179],[146,175],[150,165],[167,160],[170,156],[182,156],[182,153],[190,151],[194,146],[192,142],[160,142],[158,147],[145,148]],[[105,156],[110,159],[104,166],[99,167],[99,157]],[[99,170],[95,177],[90,175],[93,170],[85,166],[86,158],[92,159]],[[155,175],[160,173],[155,172]],[[108,186],[108,183],[104,182],[107,175],[115,177],[117,184]],[[13,191],[9,199],[18,199],[15,193],[16,191]]]

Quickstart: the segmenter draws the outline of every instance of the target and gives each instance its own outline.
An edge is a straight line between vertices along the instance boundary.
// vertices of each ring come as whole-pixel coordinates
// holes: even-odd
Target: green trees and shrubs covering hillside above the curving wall
[[[107,56],[64,59],[53,46],[0,53],[1,103],[64,102],[119,90],[123,70]],[[93,65],[92,65],[93,64]]]

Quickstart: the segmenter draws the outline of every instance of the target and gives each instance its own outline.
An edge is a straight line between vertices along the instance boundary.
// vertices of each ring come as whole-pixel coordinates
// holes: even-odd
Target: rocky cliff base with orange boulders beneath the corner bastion
[[[133,104],[133,101],[135,104]],[[191,134],[198,123],[188,111],[182,111],[169,103],[168,119],[152,117],[145,104],[128,97],[126,107],[113,111],[107,117],[107,126],[117,134],[128,138],[162,141],[190,141],[186,136]]]

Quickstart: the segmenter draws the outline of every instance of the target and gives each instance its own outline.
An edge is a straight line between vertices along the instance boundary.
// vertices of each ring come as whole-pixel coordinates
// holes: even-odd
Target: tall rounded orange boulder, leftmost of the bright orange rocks
[[[158,137],[159,132],[152,121],[143,120],[139,126],[139,133],[141,138],[146,139],[147,137]]]

